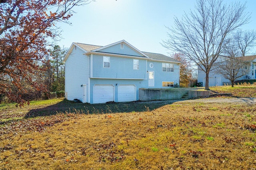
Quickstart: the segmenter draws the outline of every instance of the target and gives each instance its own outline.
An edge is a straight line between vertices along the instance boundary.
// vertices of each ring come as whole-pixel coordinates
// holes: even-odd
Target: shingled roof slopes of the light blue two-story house
[[[103,46],[83,44],[83,43],[74,43],[74,44],[78,45],[79,47],[81,47],[82,49],[84,49],[87,52],[90,52],[92,50],[99,49],[99,48],[103,47]],[[166,55],[162,55],[162,54],[158,54],[158,53],[148,53],[148,52],[142,52],[142,53],[144,53],[145,55],[147,55],[148,57],[150,57],[151,59],[154,59],[154,60],[162,60],[162,61],[181,63],[180,61],[175,60]]]

